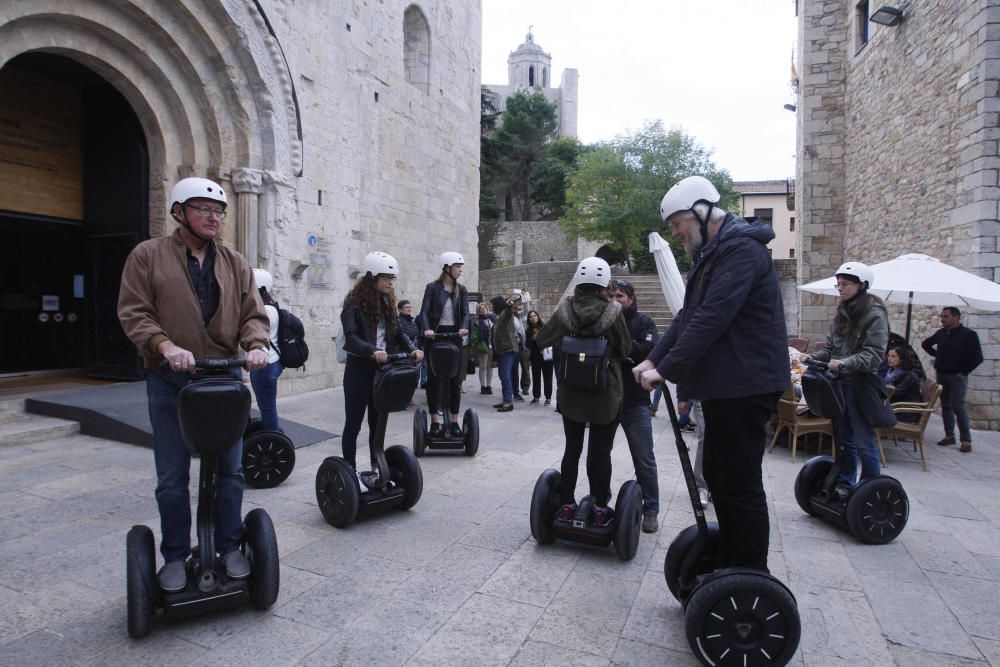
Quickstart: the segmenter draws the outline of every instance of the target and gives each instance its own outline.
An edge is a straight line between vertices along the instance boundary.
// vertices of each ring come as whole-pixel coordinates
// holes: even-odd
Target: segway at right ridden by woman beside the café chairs
[[[809,410],[833,423],[833,442],[840,455],[815,456],[795,477],[795,501],[806,514],[830,519],[865,544],[886,544],[896,539],[910,516],[910,501],[899,480],[878,475],[863,480],[846,495],[837,493],[843,471],[844,447],[839,422],[844,416],[844,396],[839,383],[826,372],[827,364],[810,360],[802,376],[802,393]]]

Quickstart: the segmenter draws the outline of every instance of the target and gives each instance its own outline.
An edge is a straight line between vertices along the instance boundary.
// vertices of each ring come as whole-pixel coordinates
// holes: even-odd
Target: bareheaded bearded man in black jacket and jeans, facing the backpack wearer
[[[632,338],[632,359],[645,359],[659,338],[656,324],[648,315],[639,312],[635,288],[629,281],[612,278],[608,295],[622,306]],[[653,456],[653,423],[649,412],[649,391],[638,382],[627,379],[635,365],[629,359],[622,366],[622,378],[625,379],[622,382],[621,424],[632,454],[635,478],[642,487],[642,530],[644,533],[655,533],[659,527],[656,517],[660,513],[660,487],[656,479],[656,458]]]

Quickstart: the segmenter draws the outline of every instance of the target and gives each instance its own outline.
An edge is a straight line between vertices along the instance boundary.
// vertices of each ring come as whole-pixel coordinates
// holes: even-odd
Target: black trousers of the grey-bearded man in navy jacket
[[[780,394],[702,401],[704,474],[719,519],[722,563],[767,569],[770,522],[761,463]]]

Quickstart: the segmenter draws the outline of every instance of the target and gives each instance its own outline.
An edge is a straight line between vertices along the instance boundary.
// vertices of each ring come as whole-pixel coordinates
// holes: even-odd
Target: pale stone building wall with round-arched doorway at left
[[[132,241],[119,263],[134,242],[173,230],[179,178],[222,182],[224,240],[274,275],[305,322],[307,370],[281,380],[299,392],[339,382],[340,304],[367,252],[397,257],[400,297],[419,302],[443,250],[465,255],[476,288],[481,22],[478,0],[21,0],[0,4],[0,72],[58,88],[85,69],[134,114],[141,136],[123,148],[144,152],[148,179],[135,186],[141,214],[121,223]],[[44,152],[52,139],[39,132]],[[0,164],[16,162],[4,151]],[[99,185],[101,168],[81,178]],[[38,216],[25,208],[12,215],[27,225]],[[98,224],[92,208],[73,221],[84,234]],[[113,312],[111,291],[94,297]]]

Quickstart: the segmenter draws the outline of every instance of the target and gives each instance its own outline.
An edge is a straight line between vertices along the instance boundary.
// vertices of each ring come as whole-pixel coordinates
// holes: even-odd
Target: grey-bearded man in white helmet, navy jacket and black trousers
[[[764,430],[791,374],[785,309],[767,250],[774,230],[726,213],[719,199],[702,176],[663,197],[660,216],[694,263],[684,307],[633,374],[647,389],[669,380],[701,400],[721,565],[766,572]]]

